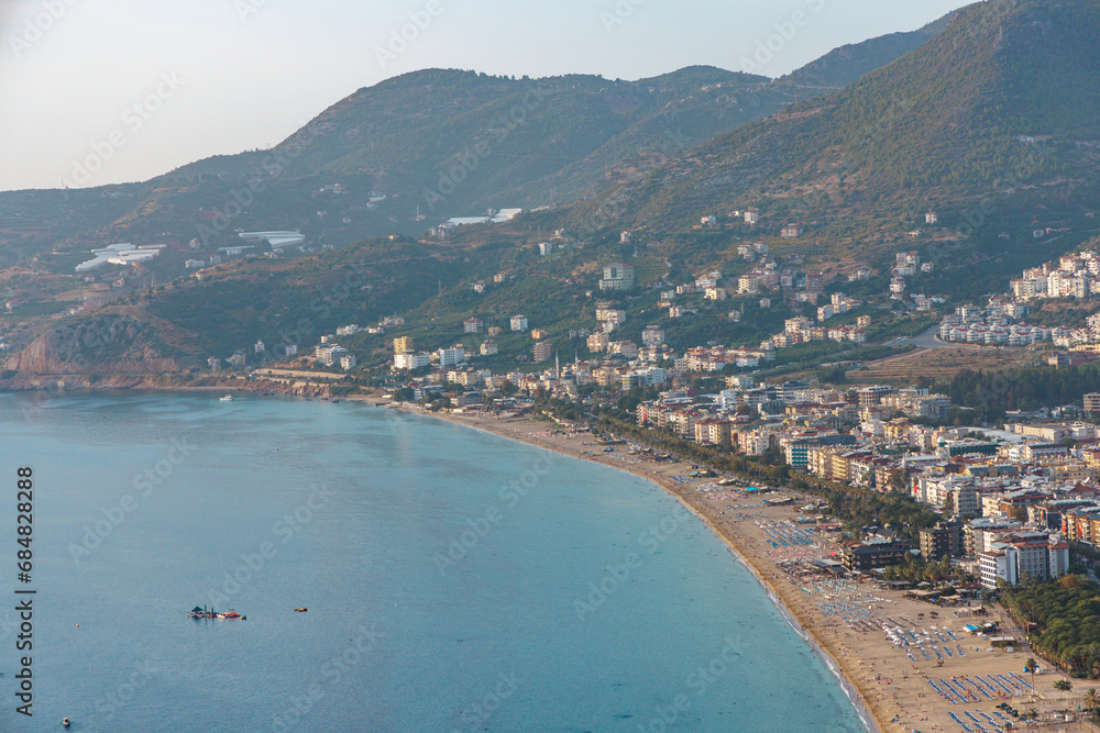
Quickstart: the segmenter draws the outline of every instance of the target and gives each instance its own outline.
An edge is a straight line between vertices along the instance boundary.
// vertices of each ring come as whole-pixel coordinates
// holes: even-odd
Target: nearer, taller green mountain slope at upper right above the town
[[[850,234],[928,207],[982,226],[1094,206],[1100,152],[1100,5],[990,0],[955,13],[916,51],[832,95],[784,109],[590,202],[625,224],[676,231],[701,213],[758,207]],[[1050,225],[1050,224],[1046,224]],[[1030,234],[1031,230],[1027,230]]]

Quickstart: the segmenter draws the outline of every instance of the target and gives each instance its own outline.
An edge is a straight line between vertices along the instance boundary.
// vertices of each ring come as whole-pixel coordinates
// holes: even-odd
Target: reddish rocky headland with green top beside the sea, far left
[[[150,374],[184,368],[157,347],[153,326],[129,315],[96,315],[38,336],[4,364],[24,375]]]

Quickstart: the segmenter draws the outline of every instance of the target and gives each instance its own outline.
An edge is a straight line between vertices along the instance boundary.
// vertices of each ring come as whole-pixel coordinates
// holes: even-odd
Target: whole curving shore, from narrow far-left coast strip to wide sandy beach
[[[301,389],[301,387],[306,387],[306,389]],[[72,391],[85,395],[97,392],[195,395],[222,391],[227,388],[230,386],[226,384],[165,386],[145,382],[125,386],[79,385],[74,386]],[[787,542],[782,543],[783,547],[779,547],[777,543],[771,542],[769,530],[774,530],[777,525],[798,526],[796,520],[800,518],[796,506],[747,503],[759,500],[750,496],[734,496],[730,490],[724,490],[714,485],[711,487],[697,486],[695,482],[703,479],[689,478],[690,468],[685,464],[635,459],[636,456],[619,452],[597,453],[596,445],[590,442],[579,442],[587,433],[572,433],[562,425],[535,420],[530,417],[432,413],[420,410],[416,406],[395,403],[377,396],[349,395],[329,398],[327,389],[317,389],[312,385],[273,385],[268,381],[251,381],[233,385],[230,390],[254,392],[256,397],[263,396],[261,392],[273,392],[275,397],[306,399],[307,401],[311,398],[320,398],[333,402],[364,403],[374,408],[388,408],[408,414],[437,418],[563,456],[625,470],[656,485],[700,518],[723,541],[733,558],[754,575],[769,600],[791,624],[794,632],[810,645],[811,651],[837,677],[845,696],[871,733],[912,733],[915,730],[954,732],[959,730],[959,725],[957,719],[953,720],[952,718],[953,708],[955,711],[968,715],[971,711],[987,718],[989,718],[988,713],[1000,715],[1000,712],[992,707],[998,698],[1001,701],[1008,700],[1020,706],[1032,706],[1046,713],[1066,708],[1067,701],[1062,696],[1047,697],[1040,691],[1050,688],[1050,682],[1055,679],[1066,679],[1066,676],[1059,670],[1044,665],[1040,677],[1033,678],[1035,688],[1031,691],[1025,689],[1026,684],[1015,686],[1011,679],[1004,677],[1004,675],[1014,676],[1014,673],[1022,668],[1023,662],[1034,654],[1027,648],[1026,643],[1010,651],[972,646],[975,643],[988,643],[988,640],[965,635],[966,632],[963,631],[961,625],[969,621],[959,617],[969,618],[967,615],[969,614],[967,610],[969,604],[963,607],[961,611],[954,614],[956,618],[952,619],[952,614],[946,608],[905,598],[901,591],[879,589],[870,587],[870,584],[857,584],[853,580],[825,579],[823,581],[820,576],[811,577],[807,581],[802,574],[789,573],[792,559],[801,562],[800,557],[806,559],[807,553],[824,556],[823,553],[828,553],[831,547],[835,549],[833,546],[835,540],[824,535],[813,542],[813,547],[788,546]],[[12,393],[34,390],[32,388],[32,390],[0,391]],[[64,391],[63,388],[62,393]],[[587,446],[588,449],[583,449],[582,446]],[[800,495],[793,491],[783,491],[783,493],[795,497],[794,503],[798,504]],[[766,511],[761,511],[761,508]],[[730,514],[729,510],[736,510],[739,513]],[[770,548],[767,546],[769,544]],[[792,545],[794,544],[798,543],[792,543]],[[849,612],[838,612],[833,606],[835,603],[842,607],[847,606]],[[864,610],[865,607],[866,610]],[[850,615],[853,608],[856,609],[855,613],[859,619],[869,621],[869,623],[864,621],[853,623],[854,619]],[[943,611],[942,615],[938,613],[939,611]],[[987,620],[1008,621],[996,608],[990,611],[990,614],[991,618]],[[939,624],[939,631],[936,631],[936,625],[925,625],[930,623]],[[946,623],[952,623],[960,635],[956,636],[948,631]],[[886,640],[887,634],[883,634],[882,631],[890,628],[897,628],[897,631],[910,634],[914,643],[910,645],[906,642],[908,648],[903,649],[897,640]],[[941,641],[930,638],[930,630],[935,632]],[[944,638],[942,632],[950,634],[952,643],[958,647],[957,657],[953,654],[953,648],[946,643],[947,640]],[[913,634],[917,634],[917,636]],[[921,634],[924,635],[923,640],[919,636]],[[936,651],[935,645],[941,643],[944,643],[944,652],[949,659],[944,659]],[[963,643],[967,644],[965,653],[961,647]],[[935,653],[936,659],[927,654],[924,648],[925,644],[932,645],[931,651]],[[924,660],[914,657],[911,652],[923,654]],[[975,654],[975,652],[979,654]],[[980,654],[981,652],[996,654]],[[899,657],[899,655],[903,656]],[[909,657],[908,662],[905,656]],[[987,693],[985,700],[978,696],[974,696],[972,700],[960,699],[960,702],[966,706],[986,706],[985,710],[980,707],[971,707],[970,710],[966,710],[961,706],[956,706],[954,701],[948,704],[946,696],[939,688],[936,688],[933,681],[935,678],[939,680],[941,685],[949,686],[950,682],[945,682],[944,678],[968,681],[977,675],[999,675],[1009,685],[1019,689],[1012,690],[1010,695],[1002,695],[994,689],[998,697],[990,697]],[[1080,680],[1071,681],[1078,682]],[[936,689],[931,690],[928,685]],[[1004,686],[1002,685],[1002,687]],[[1079,688],[1078,691],[1082,692],[1084,689],[1084,687]],[[1005,689],[1005,691],[1009,690]],[[939,696],[944,696],[945,700],[941,700]]]

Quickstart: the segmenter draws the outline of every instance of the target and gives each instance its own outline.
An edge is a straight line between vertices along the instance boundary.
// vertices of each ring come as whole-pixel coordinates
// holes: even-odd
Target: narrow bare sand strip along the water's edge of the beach
[[[833,654],[828,652],[826,646],[822,644],[822,640],[818,638],[813,633],[812,624],[801,620],[798,613],[788,606],[788,603],[784,601],[782,597],[782,593],[779,592],[779,589],[767,578],[767,576],[763,573],[763,569],[757,567],[754,564],[752,559],[755,558],[751,557],[750,553],[747,552],[747,549],[744,546],[739,545],[734,538],[734,536],[724,532],[722,527],[718,526],[718,524],[716,524],[712,520],[711,517],[708,517],[705,512],[703,512],[698,507],[688,501],[683,493],[676,491],[675,488],[672,487],[670,484],[661,480],[659,476],[656,476],[654,471],[637,469],[628,465],[617,466],[606,460],[600,460],[593,456],[575,455],[549,442],[537,441],[534,438],[525,438],[522,436],[508,433],[504,430],[493,430],[491,424],[485,424],[491,420],[495,420],[492,418],[485,418],[485,417],[470,418],[464,415],[453,415],[450,413],[421,412],[419,410],[409,409],[399,403],[384,402],[384,401],[380,403],[380,401],[375,401],[370,398],[365,399],[358,398],[358,399],[352,399],[351,401],[365,402],[375,408],[398,410],[407,414],[414,414],[424,418],[436,418],[452,424],[462,425],[463,427],[469,427],[472,430],[490,433],[497,437],[514,440],[519,443],[525,443],[527,445],[531,445],[542,449],[552,451],[559,455],[563,455],[570,458],[588,460],[590,463],[594,463],[601,466],[623,470],[632,476],[642,478],[649,481],[650,484],[653,484],[662,491],[664,491],[673,499],[675,499],[681,506],[683,506],[696,519],[698,519],[718,540],[722,541],[724,545],[726,545],[726,548],[727,551],[729,551],[734,560],[737,562],[739,565],[741,565],[741,567],[744,567],[756,579],[757,584],[759,584],[760,588],[765,591],[765,595],[768,597],[768,600],[776,607],[776,609],[780,612],[780,614],[783,617],[787,623],[790,624],[794,633],[798,634],[804,642],[806,642],[806,644],[810,646],[811,652],[815,654],[820,659],[822,659],[822,662],[825,664],[829,673],[836,678],[837,682],[840,686],[842,691],[844,692],[848,701],[853,704],[853,707],[856,709],[856,712],[859,715],[860,720],[862,721],[868,733],[882,733],[882,731],[887,730],[882,725],[882,722],[873,713],[871,706],[868,704],[864,690],[860,689],[860,686],[856,684],[855,680],[850,679],[848,675],[845,674],[844,665],[838,659],[836,659],[833,656]],[[675,465],[682,465],[682,464],[666,464],[666,466],[675,466]]]

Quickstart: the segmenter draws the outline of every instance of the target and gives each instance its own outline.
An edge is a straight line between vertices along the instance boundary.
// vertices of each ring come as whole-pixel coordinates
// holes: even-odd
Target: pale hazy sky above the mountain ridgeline
[[[356,89],[421,68],[624,79],[695,64],[745,70],[770,40],[777,51],[755,70],[780,76],[965,4],[0,0],[0,190],[143,180],[268,147]],[[394,42],[403,27],[411,42]]]

